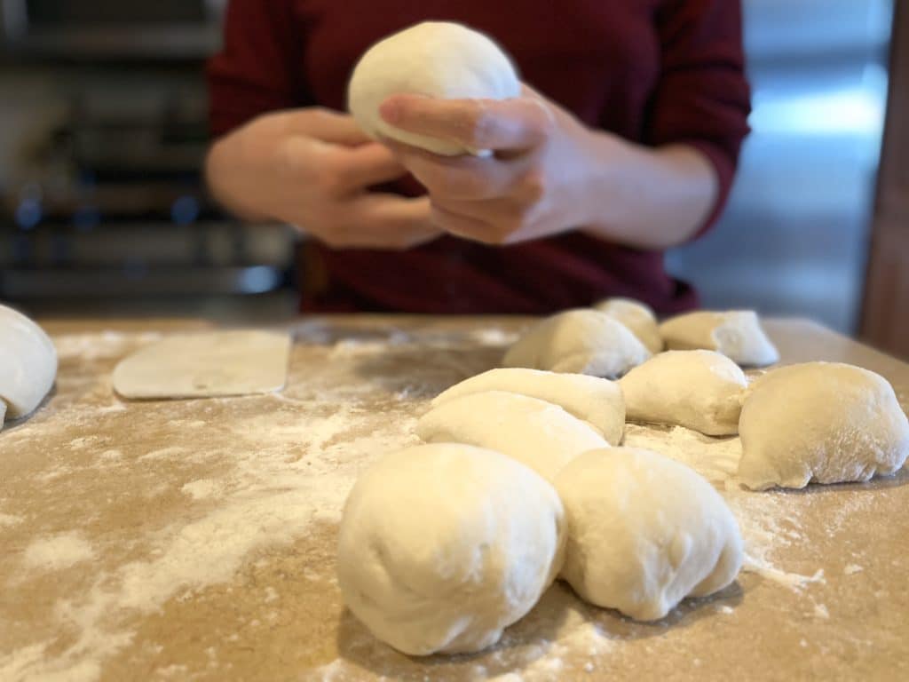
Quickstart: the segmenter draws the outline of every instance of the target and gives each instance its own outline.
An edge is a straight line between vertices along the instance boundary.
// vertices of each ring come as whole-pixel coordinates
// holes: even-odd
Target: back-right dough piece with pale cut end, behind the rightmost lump
[[[754,310],[686,313],[660,325],[660,335],[671,350],[715,350],[741,366],[773,365],[780,359]]]

